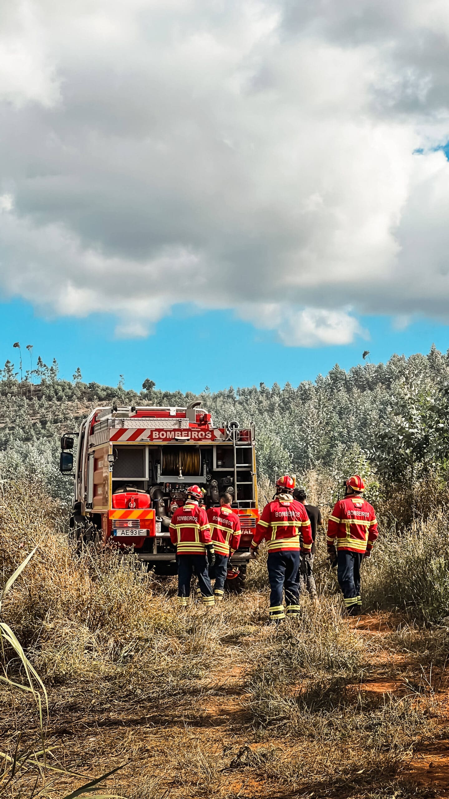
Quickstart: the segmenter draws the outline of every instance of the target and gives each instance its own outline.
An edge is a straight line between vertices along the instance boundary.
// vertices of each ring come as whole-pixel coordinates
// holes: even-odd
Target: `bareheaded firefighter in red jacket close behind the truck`
[[[209,569],[209,575],[215,578],[213,595],[217,602],[223,599],[229,558],[240,543],[240,519],[232,511],[231,503],[232,496],[225,492],[220,497],[220,507],[211,507],[208,511],[210,534],[215,550],[215,565]]]

